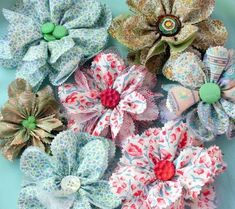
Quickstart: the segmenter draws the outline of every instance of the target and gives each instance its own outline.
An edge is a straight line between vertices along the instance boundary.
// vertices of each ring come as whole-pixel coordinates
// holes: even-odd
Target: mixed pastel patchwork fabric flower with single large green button
[[[207,50],[203,62],[191,53],[181,55],[173,68],[175,80],[167,107],[186,114],[187,123],[202,141],[233,131],[235,119],[235,64],[233,51]],[[230,135],[228,133],[228,135]]]

